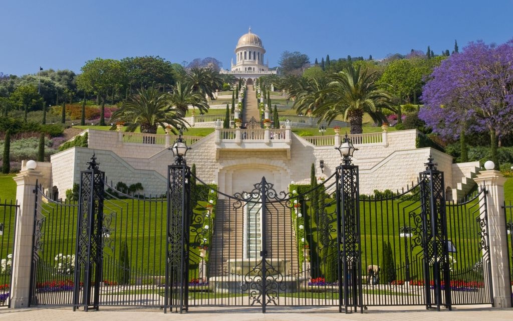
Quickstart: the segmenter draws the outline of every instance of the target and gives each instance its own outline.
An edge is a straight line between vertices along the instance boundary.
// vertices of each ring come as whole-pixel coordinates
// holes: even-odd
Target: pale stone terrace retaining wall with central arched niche
[[[101,169],[115,184],[117,181],[132,184],[141,182],[145,193],[165,190],[167,166],[174,162],[173,154],[164,145],[123,143],[123,133],[90,130],[89,148],[72,148],[52,156],[52,181],[60,191],[71,188],[80,181],[80,171],[96,151]],[[379,135],[379,134],[378,134]],[[429,155],[435,158],[438,169],[443,171],[445,185],[456,187],[455,180],[470,176],[475,163],[453,166],[452,157],[432,148],[416,148],[417,130],[381,133],[382,142],[357,145],[353,163],[360,166],[360,192],[374,190],[402,190],[416,183],[419,172],[425,168]],[[340,141],[342,136],[336,138]],[[341,163],[334,146],[315,146],[305,139],[292,135],[290,150],[274,148],[216,148],[214,134],[194,143],[186,156],[187,164],[196,164],[196,175],[206,183],[219,184],[220,190],[233,194],[247,191],[266,176],[277,191],[286,190],[291,181],[308,184],[310,167],[315,164],[317,177],[329,177]],[[256,146],[256,145],[255,145]],[[324,173],[319,161],[324,160]],[[452,172],[455,169],[455,176]],[[71,174],[73,173],[73,174]],[[249,173],[249,174],[248,174]]]

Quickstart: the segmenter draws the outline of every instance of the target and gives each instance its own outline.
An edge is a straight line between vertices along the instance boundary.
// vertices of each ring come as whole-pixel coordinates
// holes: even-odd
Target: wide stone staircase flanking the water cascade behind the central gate
[[[256,204],[254,209],[249,209],[247,221],[244,220],[243,207],[232,199],[218,200],[208,262],[209,277],[227,275],[228,260],[257,259],[257,262],[260,261],[262,222],[261,216],[257,213],[261,205]],[[244,233],[245,223],[248,224],[247,234]],[[267,206],[266,236],[267,257],[286,260],[288,264],[286,273],[297,273],[299,271],[298,250],[292,230],[290,209],[281,204]],[[247,238],[246,241],[244,237]]]

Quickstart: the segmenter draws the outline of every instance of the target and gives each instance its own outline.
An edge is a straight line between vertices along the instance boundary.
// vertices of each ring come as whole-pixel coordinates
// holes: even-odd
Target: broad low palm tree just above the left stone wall
[[[111,122],[121,122],[128,127],[128,131],[134,131],[141,126],[141,133],[156,134],[157,126],[171,126],[173,133],[177,129],[185,127],[188,123],[184,120],[185,112],[181,108],[173,106],[170,95],[167,92],[150,87],[137,90],[136,95],[114,111]],[[113,130],[115,126],[110,128]]]

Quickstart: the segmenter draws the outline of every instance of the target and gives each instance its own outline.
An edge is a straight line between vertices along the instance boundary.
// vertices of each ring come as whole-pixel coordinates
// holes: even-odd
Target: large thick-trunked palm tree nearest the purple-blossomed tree
[[[343,116],[351,125],[351,134],[362,133],[363,115],[368,114],[375,122],[385,120],[380,107],[389,108],[390,96],[376,85],[376,73],[368,73],[360,67],[349,65],[330,76],[331,83],[317,95],[323,103],[315,110],[320,122],[328,125],[338,116]]]

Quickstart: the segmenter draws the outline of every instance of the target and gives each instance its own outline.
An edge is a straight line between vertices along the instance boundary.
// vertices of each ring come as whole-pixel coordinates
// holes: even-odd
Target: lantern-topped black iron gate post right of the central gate
[[[343,299],[346,313],[352,309],[356,312],[358,307],[363,313],[360,188],[358,166],[351,164],[352,153],[357,149],[347,134],[342,144],[335,149],[338,149],[342,156],[342,164],[336,168],[337,236],[340,249],[339,312],[342,312]]]

